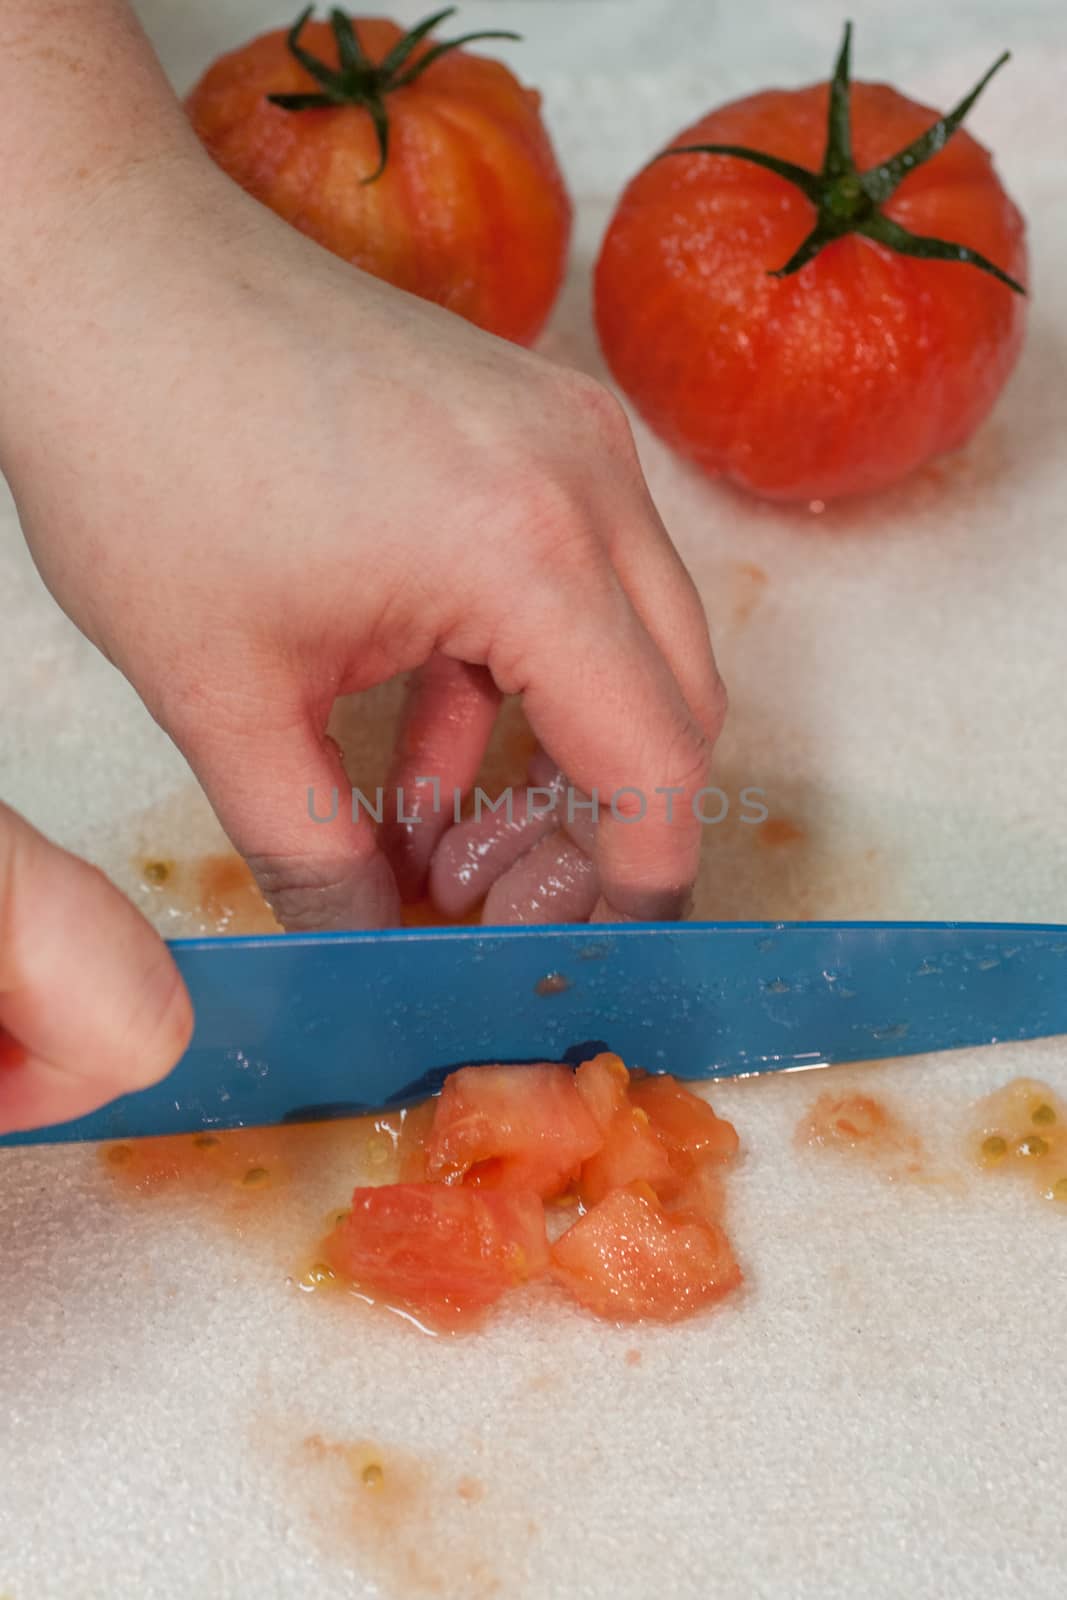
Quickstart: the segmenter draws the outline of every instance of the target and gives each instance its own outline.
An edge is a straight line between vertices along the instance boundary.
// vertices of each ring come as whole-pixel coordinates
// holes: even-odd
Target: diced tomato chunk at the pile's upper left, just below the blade
[[[461,1067],[437,1101],[426,1171],[547,1200],[601,1142],[569,1067]]]

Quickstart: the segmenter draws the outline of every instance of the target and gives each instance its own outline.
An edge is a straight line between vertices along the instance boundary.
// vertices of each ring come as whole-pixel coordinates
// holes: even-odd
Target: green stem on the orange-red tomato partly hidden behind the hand
[[[299,61],[304,70],[315,80],[318,90],[301,91],[296,94],[267,94],[272,106],[280,106],[282,110],[299,112],[299,110],[336,110],[341,106],[358,106],[362,110],[368,112],[373,125],[374,136],[378,139],[378,166],[360,182],[373,184],[386,171],[386,162],[389,160],[389,112],[386,109],[386,96],[392,94],[394,90],[403,90],[410,83],[414,83],[427,67],[432,67],[435,61],[448,54],[450,50],[459,50],[461,45],[470,45],[478,38],[520,38],[520,34],[504,32],[501,29],[493,29],[480,34],[462,34],[459,38],[445,38],[434,45],[432,50],[424,51],[421,56],[411,59],[418,46],[434,32],[434,29],[445,22],[454,14],[456,6],[446,6],[443,11],[435,11],[432,16],[424,18],[413,29],[403,34],[392,50],[382,56],[381,61],[374,62],[370,59],[363,45],[360,43],[360,35],[357,32],[354,19],[346,11],[333,10],[330,13],[330,29],[333,32],[334,42],[338,45],[338,66],[330,66],[328,61],[320,61],[318,56],[312,56],[310,50],[301,45],[301,34],[304,32],[309,18],[312,16],[315,6],[309,5],[301,11],[298,19],[293,22],[286,35],[286,43],[290,54]]]

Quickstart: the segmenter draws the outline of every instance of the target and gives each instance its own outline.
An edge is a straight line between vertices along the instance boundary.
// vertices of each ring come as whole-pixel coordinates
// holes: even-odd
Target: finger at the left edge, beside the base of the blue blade
[[[0,806],[0,1131],[154,1083],[190,1035],[186,986],[154,928]]]

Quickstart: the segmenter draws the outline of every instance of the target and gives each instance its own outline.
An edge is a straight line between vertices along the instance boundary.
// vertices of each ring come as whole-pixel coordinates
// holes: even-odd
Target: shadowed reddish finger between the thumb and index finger
[[[442,654],[430,656],[408,691],[379,834],[405,901],[424,893],[453,790],[467,794],[478,776],[499,706],[499,690],[485,667]]]

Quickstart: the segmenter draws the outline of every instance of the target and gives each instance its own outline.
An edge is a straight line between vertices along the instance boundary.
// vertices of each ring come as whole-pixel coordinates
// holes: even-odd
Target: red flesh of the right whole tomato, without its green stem
[[[853,146],[877,165],[937,112],[853,85]],[[672,144],[728,142],[817,170],[827,85],[768,90],[710,112]],[[909,174],[885,213],[969,245],[1027,282],[1024,224],[965,130]],[[1019,354],[1025,301],[973,266],[904,258],[859,235],[787,278],[814,206],[721,155],[670,155],[633,178],[597,262],[608,365],[662,438],[709,474],[771,499],[883,488],[961,445]]]

